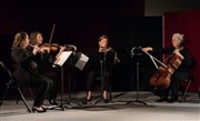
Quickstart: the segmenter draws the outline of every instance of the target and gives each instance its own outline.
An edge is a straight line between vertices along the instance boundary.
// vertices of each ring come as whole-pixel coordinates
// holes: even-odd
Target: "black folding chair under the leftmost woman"
[[[27,110],[31,113],[31,110],[30,110],[30,108],[29,108],[29,105],[28,105],[28,103],[27,103],[27,101],[24,99],[24,95],[21,92],[20,85],[19,85],[18,81],[14,79],[13,74],[10,72],[10,70],[1,61],[0,61],[0,68],[2,68],[3,71],[6,71],[6,73],[8,73],[9,78],[10,78],[9,82],[6,83],[7,89],[6,89],[4,94],[3,94],[2,99],[1,99],[0,107],[2,105],[4,99],[7,98],[9,89],[10,88],[14,88],[14,89],[18,90],[18,92],[19,92],[19,94],[20,94],[20,97],[21,97],[21,99],[22,99]]]

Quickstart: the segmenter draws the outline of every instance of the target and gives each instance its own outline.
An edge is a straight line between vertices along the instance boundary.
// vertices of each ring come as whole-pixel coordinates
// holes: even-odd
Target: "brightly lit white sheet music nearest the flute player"
[[[63,51],[57,60],[53,62],[54,65],[62,67],[63,63],[68,60],[68,58],[71,56],[72,51]]]

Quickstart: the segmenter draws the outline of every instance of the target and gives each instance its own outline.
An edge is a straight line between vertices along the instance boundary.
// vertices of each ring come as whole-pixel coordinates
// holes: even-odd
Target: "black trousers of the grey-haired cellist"
[[[161,97],[168,98],[169,92],[171,91],[171,98],[177,98],[179,92],[180,81],[184,81],[189,78],[188,72],[176,72],[171,77],[170,85],[161,91]]]

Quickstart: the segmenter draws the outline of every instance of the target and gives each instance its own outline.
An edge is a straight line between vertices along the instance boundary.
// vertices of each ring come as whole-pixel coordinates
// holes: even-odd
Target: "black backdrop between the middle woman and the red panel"
[[[136,90],[136,63],[139,63],[140,90],[151,90],[149,79],[156,71],[153,63],[147,54],[133,56],[131,49],[137,47],[162,46],[162,18],[138,17],[112,20],[112,44],[118,51],[121,63],[117,67],[113,80],[114,90],[130,90],[131,80]],[[161,56],[152,53],[157,58]]]

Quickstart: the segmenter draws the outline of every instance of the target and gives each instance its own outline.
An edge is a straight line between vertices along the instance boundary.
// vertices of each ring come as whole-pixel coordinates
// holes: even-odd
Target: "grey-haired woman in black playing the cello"
[[[189,77],[189,67],[191,65],[192,59],[190,52],[183,47],[183,34],[173,33],[172,36],[172,47],[156,49],[151,47],[143,48],[143,51],[159,51],[161,53],[173,53],[179,56],[182,60],[180,67],[173,72],[171,77],[171,84],[166,90],[162,90],[162,94],[158,102],[168,101],[174,102],[178,101],[178,91],[179,91],[179,82],[182,80],[187,80]],[[171,98],[168,100],[169,91],[171,91]]]

